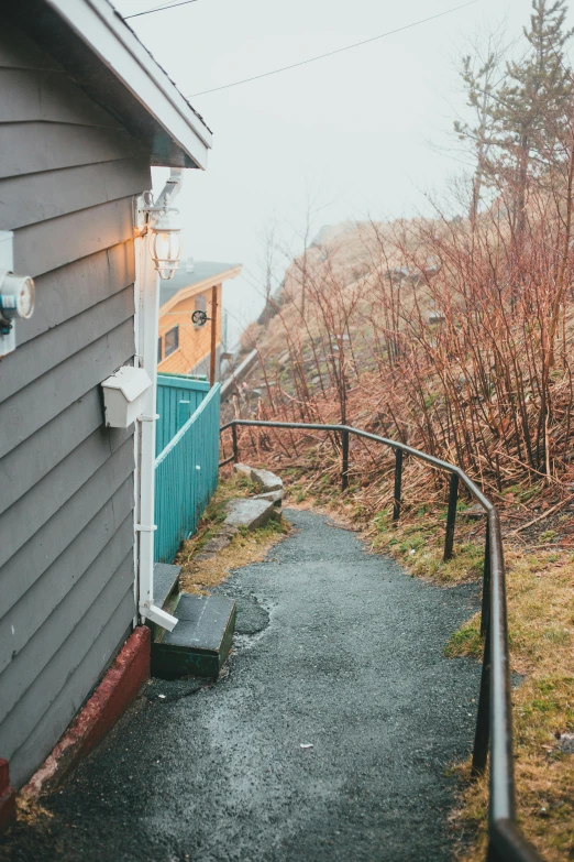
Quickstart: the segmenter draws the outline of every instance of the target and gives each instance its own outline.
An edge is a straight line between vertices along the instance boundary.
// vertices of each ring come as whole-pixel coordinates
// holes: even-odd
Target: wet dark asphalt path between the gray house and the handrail
[[[478,588],[421,582],[321,515],[286,516],[296,531],[220,588],[238,635],[218,684],[152,680],[0,860],[452,858],[446,772],[471,750],[479,668],[442,651]]]

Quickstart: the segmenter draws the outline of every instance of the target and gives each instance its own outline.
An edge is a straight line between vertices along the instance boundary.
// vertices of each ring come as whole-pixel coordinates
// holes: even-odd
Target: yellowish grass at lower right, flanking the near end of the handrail
[[[558,558],[556,558],[558,557]],[[520,827],[547,862],[574,858],[574,756],[558,738],[574,731],[574,559],[562,553],[507,549],[510,663],[526,679],[514,689],[517,808]],[[481,656],[478,617],[455,632],[448,655]],[[460,768],[470,775],[470,762]],[[456,819],[476,830],[460,859],[486,849],[487,778],[466,784]]]

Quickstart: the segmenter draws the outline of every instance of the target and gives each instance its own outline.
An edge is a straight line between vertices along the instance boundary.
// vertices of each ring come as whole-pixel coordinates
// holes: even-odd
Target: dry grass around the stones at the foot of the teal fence
[[[238,497],[250,497],[255,491],[255,485],[245,476],[234,473],[220,481],[197,533],[183,543],[175,559],[175,564],[181,566],[179,582],[185,592],[209,592],[225,580],[233,569],[265,559],[268,550],[289,533],[290,527],[283,517],[272,517],[263,527],[251,533],[241,530],[214,557],[196,560],[197,554],[221,528],[227,515],[227,503]]]

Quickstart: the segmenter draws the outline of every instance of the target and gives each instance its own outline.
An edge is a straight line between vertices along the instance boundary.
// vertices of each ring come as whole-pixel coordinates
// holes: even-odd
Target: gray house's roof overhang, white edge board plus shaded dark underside
[[[207,166],[211,131],[108,0],[21,0],[15,9],[19,25],[147,144],[152,164]]]

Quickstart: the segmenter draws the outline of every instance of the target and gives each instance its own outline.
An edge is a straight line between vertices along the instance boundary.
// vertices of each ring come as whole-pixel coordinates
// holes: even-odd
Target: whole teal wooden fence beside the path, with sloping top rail
[[[178,383],[181,382],[186,381],[179,379]],[[194,388],[184,386],[185,392],[202,395],[189,418],[184,415],[187,406],[181,410],[179,402],[190,399],[179,399],[173,392],[176,386],[166,386],[169,393],[165,404],[168,406],[164,406],[163,421],[165,427],[175,429],[175,434],[155,459],[157,563],[170,563],[181,542],[196,532],[199,519],[218,487],[221,386],[216,383],[208,390],[198,388],[201,381],[187,382]],[[159,401],[159,385],[157,389]],[[161,413],[161,407],[157,412]]]

